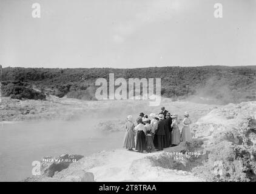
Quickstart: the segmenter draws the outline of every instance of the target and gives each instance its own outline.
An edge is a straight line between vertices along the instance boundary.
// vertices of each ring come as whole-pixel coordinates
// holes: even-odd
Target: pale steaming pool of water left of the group
[[[32,162],[62,153],[88,156],[122,147],[124,132],[100,132],[92,122],[16,122],[0,125],[0,181],[32,176]]]

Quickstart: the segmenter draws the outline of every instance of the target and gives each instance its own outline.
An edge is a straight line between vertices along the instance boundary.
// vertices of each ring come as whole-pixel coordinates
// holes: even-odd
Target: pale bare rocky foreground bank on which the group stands
[[[175,103],[169,109],[181,112],[179,106],[188,102]],[[149,154],[103,151],[61,170],[52,167],[51,176],[44,166],[41,176],[24,181],[256,181],[256,102],[207,108],[187,104],[186,110],[198,116],[191,143]]]

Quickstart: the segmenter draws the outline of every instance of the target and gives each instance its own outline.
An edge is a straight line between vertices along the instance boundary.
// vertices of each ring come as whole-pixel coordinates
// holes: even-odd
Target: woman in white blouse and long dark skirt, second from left
[[[137,150],[137,152],[143,152],[144,150],[146,150],[146,137],[145,137],[146,128],[143,125],[141,117],[137,118],[136,121],[137,121],[137,125],[134,128],[136,131],[135,150]]]

